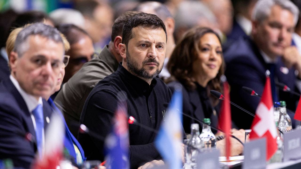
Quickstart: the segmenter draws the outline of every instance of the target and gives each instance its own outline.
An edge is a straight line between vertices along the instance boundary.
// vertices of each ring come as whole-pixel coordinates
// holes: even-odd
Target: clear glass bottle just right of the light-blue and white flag
[[[185,166],[190,166],[195,168],[197,165],[197,155],[200,150],[203,148],[204,144],[200,139],[200,126],[197,123],[191,124],[191,139],[188,141],[187,153],[185,154],[186,159],[188,160]]]

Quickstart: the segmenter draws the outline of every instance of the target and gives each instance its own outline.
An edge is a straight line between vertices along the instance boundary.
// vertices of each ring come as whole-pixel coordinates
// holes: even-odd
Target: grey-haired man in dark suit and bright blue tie
[[[14,167],[29,168],[35,154],[44,153],[52,110],[42,98],[57,85],[64,51],[60,32],[51,26],[35,23],[17,35],[11,75],[0,83],[0,159],[12,159]]]

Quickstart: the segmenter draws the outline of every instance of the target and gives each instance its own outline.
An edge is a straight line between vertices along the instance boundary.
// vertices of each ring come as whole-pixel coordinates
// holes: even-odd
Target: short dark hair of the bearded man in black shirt
[[[122,31],[122,43],[128,46],[129,40],[133,38],[132,29],[135,27],[147,27],[152,29],[162,28],[166,35],[167,41],[167,33],[166,28],[163,21],[154,14],[147,13],[139,13],[130,17],[126,23],[124,23],[123,31]]]

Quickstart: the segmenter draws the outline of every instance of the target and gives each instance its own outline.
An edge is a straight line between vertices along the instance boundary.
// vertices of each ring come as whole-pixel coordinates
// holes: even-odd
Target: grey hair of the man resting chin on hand
[[[290,11],[294,15],[296,25],[299,17],[299,9],[289,0],[259,0],[253,10],[252,20],[262,22],[271,13],[274,5],[279,5],[282,9]]]

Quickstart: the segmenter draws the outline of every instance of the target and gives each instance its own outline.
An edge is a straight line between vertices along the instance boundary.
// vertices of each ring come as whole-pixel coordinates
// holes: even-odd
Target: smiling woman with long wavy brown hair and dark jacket
[[[210,90],[222,93],[221,75],[225,63],[219,36],[210,28],[197,27],[188,30],[173,51],[167,68],[171,77],[166,81],[172,92],[175,84],[182,84],[183,113],[203,121],[210,118],[211,125],[218,127],[219,99],[210,94]],[[222,119],[220,119],[222,120]],[[183,115],[185,133],[190,133],[192,123],[202,124]],[[214,131],[216,133],[216,131]],[[232,133],[244,141],[244,130]],[[243,145],[231,138],[231,155],[242,153]],[[217,149],[225,155],[225,140],[218,141]]]

